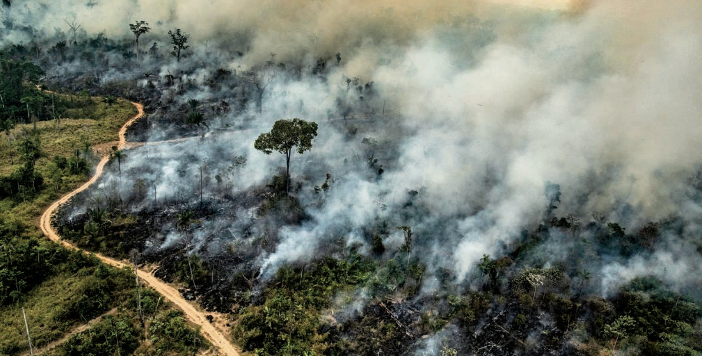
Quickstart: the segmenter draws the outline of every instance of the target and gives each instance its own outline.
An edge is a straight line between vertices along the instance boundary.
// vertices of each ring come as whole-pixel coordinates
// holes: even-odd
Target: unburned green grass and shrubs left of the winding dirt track
[[[32,223],[54,199],[86,180],[97,154],[109,153],[95,152],[93,145],[117,140],[117,130],[135,113],[133,105],[124,100],[102,103],[88,95],[50,95],[30,84],[31,75],[13,78],[15,72],[8,68],[17,73],[27,68],[40,71],[29,62],[22,66],[3,62],[7,119],[0,145],[0,353],[27,352],[24,308],[32,345],[39,350],[98,317],[86,331],[60,343],[55,355],[134,350],[145,355],[194,355],[206,341],[149,289],[140,296],[150,318],[140,326],[131,270],[108,267],[95,257],[50,242]],[[10,87],[12,80],[19,86]],[[46,106],[36,117],[32,112],[38,121],[33,124],[13,116],[22,110],[12,100],[27,95],[53,103],[48,114],[55,110],[59,116],[47,117]]]

